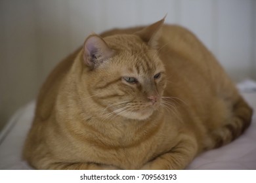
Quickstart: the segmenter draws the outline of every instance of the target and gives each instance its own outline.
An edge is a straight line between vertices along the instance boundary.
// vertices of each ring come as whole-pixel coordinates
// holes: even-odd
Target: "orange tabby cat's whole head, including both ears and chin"
[[[132,35],[89,36],[83,46],[83,77],[106,118],[145,120],[160,107],[165,69],[158,56],[163,20]]]

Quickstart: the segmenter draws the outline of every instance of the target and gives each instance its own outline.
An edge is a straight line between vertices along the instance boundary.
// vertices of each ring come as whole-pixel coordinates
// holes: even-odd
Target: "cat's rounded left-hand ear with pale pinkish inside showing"
[[[106,42],[98,35],[91,35],[83,44],[83,60],[91,69],[98,67],[103,61],[114,56]]]

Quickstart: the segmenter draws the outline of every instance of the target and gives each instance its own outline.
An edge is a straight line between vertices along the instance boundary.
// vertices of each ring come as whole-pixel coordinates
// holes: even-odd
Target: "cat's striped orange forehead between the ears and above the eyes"
[[[117,50],[116,62],[126,73],[152,75],[164,70],[158,57],[158,51],[150,48],[136,35],[118,35],[109,37],[106,42]]]

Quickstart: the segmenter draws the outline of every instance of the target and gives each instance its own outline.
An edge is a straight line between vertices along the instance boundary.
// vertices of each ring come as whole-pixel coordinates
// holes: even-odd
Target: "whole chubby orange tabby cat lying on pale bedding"
[[[35,169],[185,169],[240,136],[252,110],[195,35],[164,18],[87,37],[43,84]]]

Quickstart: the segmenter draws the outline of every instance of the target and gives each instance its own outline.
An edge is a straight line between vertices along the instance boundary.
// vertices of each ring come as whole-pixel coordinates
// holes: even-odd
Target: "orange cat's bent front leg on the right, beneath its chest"
[[[146,163],[141,169],[143,170],[167,170],[167,169],[184,169],[194,159],[198,152],[196,141],[184,139],[169,152],[161,154],[152,161]]]

